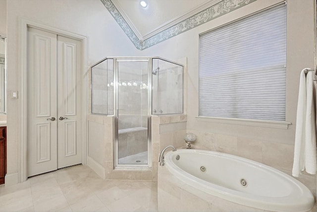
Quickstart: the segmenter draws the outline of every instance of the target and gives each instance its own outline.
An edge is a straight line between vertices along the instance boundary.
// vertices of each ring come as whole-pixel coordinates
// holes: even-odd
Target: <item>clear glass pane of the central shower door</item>
[[[117,66],[118,164],[148,164],[148,61]]]

